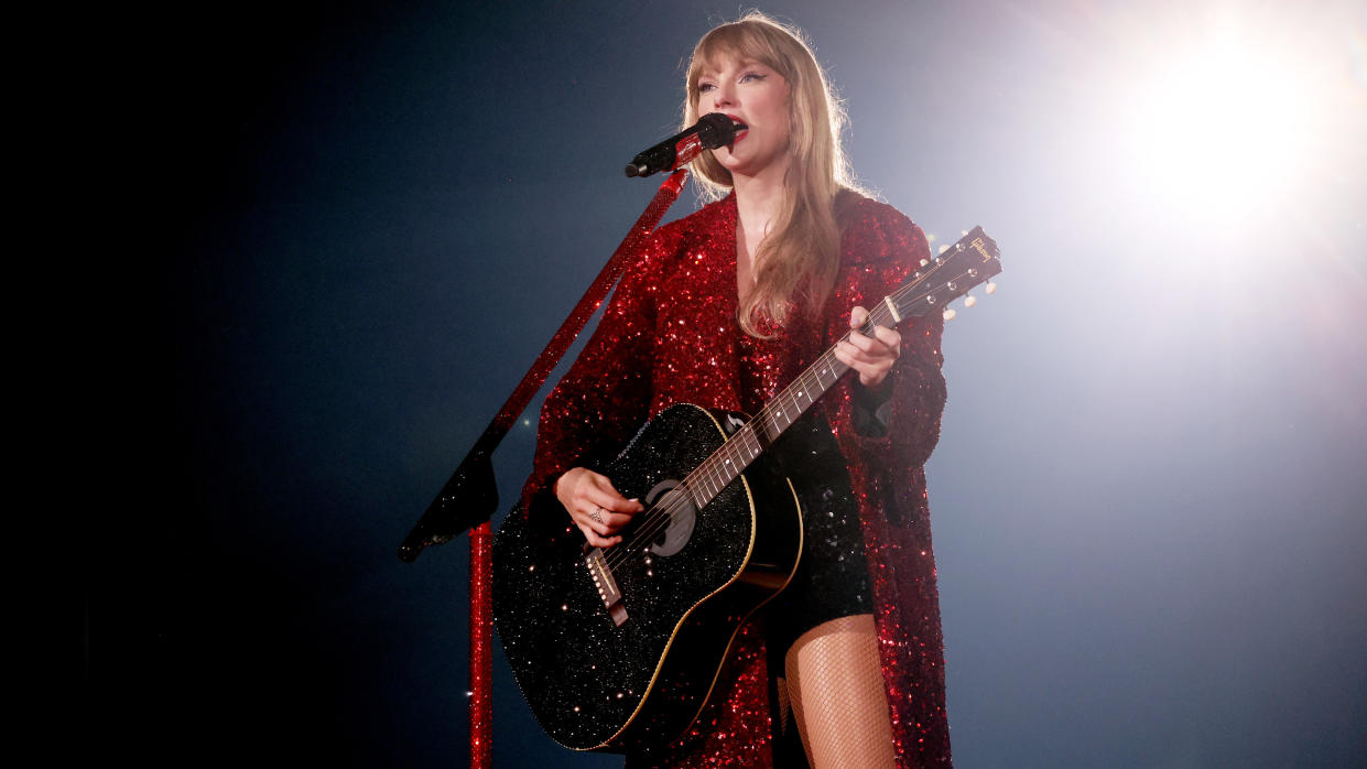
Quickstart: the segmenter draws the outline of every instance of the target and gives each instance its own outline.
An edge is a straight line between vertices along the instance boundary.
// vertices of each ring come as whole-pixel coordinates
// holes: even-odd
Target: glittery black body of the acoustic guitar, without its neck
[[[723,445],[731,419],[673,406],[597,469],[627,498],[651,505],[649,491],[673,468],[699,467]],[[586,558],[584,535],[547,497],[548,509],[509,513],[493,539],[493,621],[518,686],[566,747],[666,744],[697,716],[741,623],[797,568],[802,524],[791,486],[753,468],[694,516],[686,542],[664,530],[662,549],[681,547],[674,556],[641,551],[625,561],[612,556],[649,536],[645,525],[633,521],[622,545]],[[637,521],[663,505],[655,499]],[[621,624],[586,566],[597,558],[611,565],[621,591]]]

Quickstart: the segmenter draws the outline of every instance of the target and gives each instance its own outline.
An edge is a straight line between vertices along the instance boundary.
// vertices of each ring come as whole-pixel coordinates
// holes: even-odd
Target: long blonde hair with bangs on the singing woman
[[[783,200],[755,252],[755,287],[737,319],[746,334],[763,338],[759,319],[782,326],[794,308],[815,316],[835,287],[841,257],[837,197],[841,190],[856,189],[841,149],[846,116],[802,33],[750,11],[704,34],[693,48],[685,81],[684,127],[699,118],[699,78],[704,70],[719,68],[723,56],[759,62],[789,85],[790,163]],[[697,156],[692,167],[704,198],[718,200],[730,192],[731,172],[711,152]]]

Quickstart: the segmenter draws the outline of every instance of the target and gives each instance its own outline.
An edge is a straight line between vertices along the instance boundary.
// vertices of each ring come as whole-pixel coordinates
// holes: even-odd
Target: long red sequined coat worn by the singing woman
[[[586,453],[612,453],[678,402],[753,410],[849,330],[854,305],[891,293],[930,249],[897,209],[846,196],[835,291],[819,322],[797,317],[775,339],[742,342],[737,315],[734,196],[660,227],[623,275],[596,333],[541,409],[525,498]],[[849,461],[860,508],[883,677],[899,766],[949,765],[945,657],[923,465],[945,408],[938,316],[904,324],[883,438],[853,427],[850,375],[822,401]],[[740,356],[750,376],[741,376]],[[757,376],[755,375],[757,372]],[[742,393],[742,379],[763,391]],[[766,654],[742,629],[719,692],[670,751],[673,766],[771,766]]]

